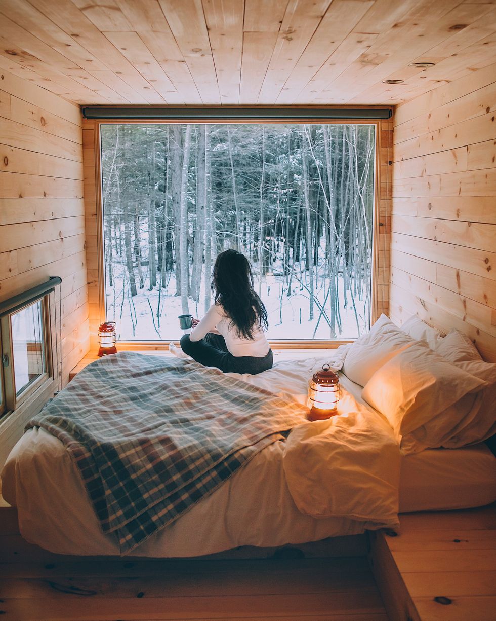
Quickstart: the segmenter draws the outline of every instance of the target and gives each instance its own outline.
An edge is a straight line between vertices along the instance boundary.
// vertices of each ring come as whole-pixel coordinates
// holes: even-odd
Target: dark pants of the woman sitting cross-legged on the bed
[[[185,334],[181,340],[181,349],[200,365],[216,366],[224,373],[250,373],[256,375],[272,368],[272,350],[268,350],[267,356],[255,358],[255,356],[233,356],[229,353],[224,337],[209,332],[205,338],[192,341],[189,334]]]

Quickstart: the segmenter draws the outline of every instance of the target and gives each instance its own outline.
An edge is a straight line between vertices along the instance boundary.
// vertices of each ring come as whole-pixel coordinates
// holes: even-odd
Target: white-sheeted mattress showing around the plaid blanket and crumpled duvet
[[[324,361],[281,361],[258,376],[232,376],[303,403],[308,378]],[[344,374],[340,374],[340,383],[365,413],[374,420],[384,419],[363,401],[362,386]],[[210,496],[129,554],[200,556],[238,546],[314,542],[381,526],[380,522],[368,524],[366,520],[339,515],[315,517],[299,510],[288,486],[286,445],[273,442],[263,448]],[[484,443],[403,457],[398,453],[398,463],[400,512],[476,507],[496,499],[496,461]],[[302,462],[301,470],[304,468]],[[332,470],[328,474],[332,477]],[[25,433],[7,459],[1,478],[2,494],[17,507],[20,532],[29,542],[64,554],[121,552],[115,539],[102,532],[78,469],[63,443],[42,428]]]

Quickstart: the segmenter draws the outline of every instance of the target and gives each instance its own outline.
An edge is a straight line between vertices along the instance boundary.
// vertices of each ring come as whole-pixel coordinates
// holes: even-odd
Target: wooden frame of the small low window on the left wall
[[[15,363],[14,363],[14,342],[12,338],[12,315],[41,302],[42,309],[42,353],[45,356],[45,371],[38,378],[33,379],[27,384],[24,390],[16,394],[15,387]],[[0,417],[15,412],[30,397],[53,382],[53,360],[51,348],[51,324],[50,324],[50,293],[45,293],[35,299],[31,299],[20,307],[0,317],[0,345],[2,352],[2,388],[3,388],[3,409],[0,407]],[[4,364],[4,360],[7,361]]]

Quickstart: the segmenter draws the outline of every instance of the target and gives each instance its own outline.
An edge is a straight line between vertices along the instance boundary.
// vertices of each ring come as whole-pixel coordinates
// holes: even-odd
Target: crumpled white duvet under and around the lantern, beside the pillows
[[[304,373],[301,361],[288,360],[256,376],[232,375],[306,403],[312,374],[324,362],[339,371],[349,347],[329,350],[325,360],[309,359]],[[369,529],[398,525],[400,467],[386,418],[343,388],[338,415],[293,428],[283,453],[286,483],[299,511],[366,522]]]

